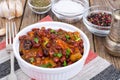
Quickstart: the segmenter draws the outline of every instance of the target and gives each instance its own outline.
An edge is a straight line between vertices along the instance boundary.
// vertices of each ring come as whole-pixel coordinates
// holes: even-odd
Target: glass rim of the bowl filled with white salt
[[[82,1],[80,1],[80,0],[73,0],[73,1],[75,1],[75,2],[77,2],[77,3],[81,3],[85,8],[87,7],[87,3],[86,3],[86,5],[82,2]],[[52,5],[52,12],[54,13],[54,14],[59,14],[59,15],[61,15],[61,16],[64,16],[64,17],[68,17],[68,18],[72,18],[72,17],[76,17],[76,16],[80,16],[80,15],[83,15],[83,13],[85,12],[85,10],[83,11],[83,12],[81,12],[81,13],[77,13],[77,14],[74,14],[74,15],[66,15],[66,14],[71,14],[71,13],[66,13],[66,14],[64,14],[64,13],[61,13],[61,12],[57,12],[54,8],[53,8],[53,6],[54,6],[55,4],[53,4]]]

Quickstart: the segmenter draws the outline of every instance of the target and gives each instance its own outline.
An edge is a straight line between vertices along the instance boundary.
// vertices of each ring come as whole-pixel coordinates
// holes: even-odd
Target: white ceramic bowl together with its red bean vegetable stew
[[[68,80],[83,68],[90,44],[83,31],[62,22],[21,30],[13,42],[20,68],[36,80]]]

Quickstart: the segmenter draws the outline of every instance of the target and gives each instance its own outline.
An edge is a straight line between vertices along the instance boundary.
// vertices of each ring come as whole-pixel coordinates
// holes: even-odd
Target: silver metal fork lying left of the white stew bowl
[[[10,54],[10,65],[11,70],[8,75],[8,80],[17,80],[17,76],[14,72],[14,53],[12,49],[13,38],[16,35],[16,24],[15,22],[7,22],[6,23],[6,51]]]

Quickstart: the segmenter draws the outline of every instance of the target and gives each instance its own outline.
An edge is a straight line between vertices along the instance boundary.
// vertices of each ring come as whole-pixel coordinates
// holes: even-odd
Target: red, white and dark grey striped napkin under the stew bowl
[[[43,18],[41,21],[52,21],[52,19],[50,16],[47,16]],[[3,42],[2,45],[5,45],[5,42]],[[8,73],[9,71],[6,70],[6,65],[8,65],[9,63],[8,59],[9,59],[9,55],[5,52],[5,50],[1,50],[0,80],[6,80],[6,77],[9,74]],[[24,74],[20,68],[16,70],[16,74],[18,80],[34,80],[28,77],[26,74]],[[70,80],[119,80],[119,78],[120,78],[120,71],[115,69],[105,59],[97,56],[97,54],[90,51],[82,71],[80,71],[79,74],[77,74],[75,77],[73,77]]]

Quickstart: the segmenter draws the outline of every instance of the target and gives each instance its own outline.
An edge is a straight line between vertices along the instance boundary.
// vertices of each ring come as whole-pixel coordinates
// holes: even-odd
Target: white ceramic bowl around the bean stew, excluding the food
[[[28,31],[30,31],[32,28],[41,28],[41,27],[52,28],[52,29],[63,29],[66,31],[78,31],[80,32],[80,35],[84,41],[84,54],[83,57],[66,67],[61,68],[42,68],[37,67],[34,65],[31,65],[27,63],[25,60],[23,60],[19,54],[19,36],[26,34]],[[61,22],[40,22],[36,23],[30,26],[27,26],[23,30],[21,30],[15,37],[13,42],[13,50],[15,53],[15,57],[17,58],[17,61],[19,63],[20,68],[24,73],[26,73],[29,77],[34,78],[36,80],[68,80],[72,77],[74,77],[76,74],[80,72],[80,70],[83,68],[85,60],[88,56],[90,49],[90,44],[87,36],[78,28],[75,26],[72,26],[70,24],[61,23]]]

